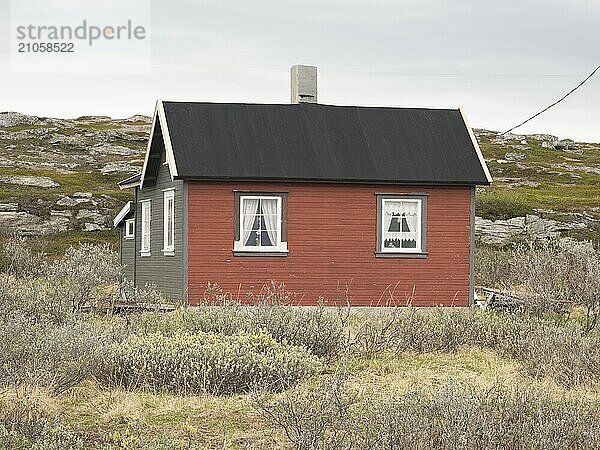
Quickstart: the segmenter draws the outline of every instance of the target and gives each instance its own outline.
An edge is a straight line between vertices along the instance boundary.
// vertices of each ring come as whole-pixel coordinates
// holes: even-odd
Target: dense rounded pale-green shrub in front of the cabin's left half
[[[265,334],[152,333],[111,345],[98,377],[128,389],[217,395],[285,389],[320,368],[305,348]]]

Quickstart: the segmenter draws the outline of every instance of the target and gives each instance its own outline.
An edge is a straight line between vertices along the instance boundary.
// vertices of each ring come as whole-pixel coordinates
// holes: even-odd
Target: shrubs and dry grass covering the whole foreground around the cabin
[[[0,448],[600,447],[591,246],[480,249],[478,284],[524,299],[511,311],[358,312],[351,291],[299,308],[270,281],[165,313],[119,286],[109,246],[27,244],[3,248]],[[119,288],[150,310],[116,314]]]

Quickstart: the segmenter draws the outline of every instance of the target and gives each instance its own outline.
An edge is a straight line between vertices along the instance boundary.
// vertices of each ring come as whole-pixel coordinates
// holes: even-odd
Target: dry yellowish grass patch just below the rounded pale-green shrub
[[[248,395],[177,396],[105,389],[88,382],[60,397],[66,421],[92,441],[115,431],[141,428],[147,435],[208,448],[285,448],[280,430],[268,425]]]

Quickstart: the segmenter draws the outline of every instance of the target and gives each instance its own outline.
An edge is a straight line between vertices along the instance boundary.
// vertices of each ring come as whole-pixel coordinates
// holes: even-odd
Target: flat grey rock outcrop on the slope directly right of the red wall
[[[557,238],[562,232],[586,227],[584,222],[559,222],[535,214],[508,220],[476,217],[475,237],[484,244],[504,246],[517,241]]]

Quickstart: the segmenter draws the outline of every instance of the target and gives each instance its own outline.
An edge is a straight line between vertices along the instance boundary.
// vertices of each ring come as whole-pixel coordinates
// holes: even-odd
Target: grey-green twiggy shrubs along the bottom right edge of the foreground
[[[327,380],[256,407],[303,449],[564,449],[600,446],[597,405],[528,387],[441,388],[359,397]]]

